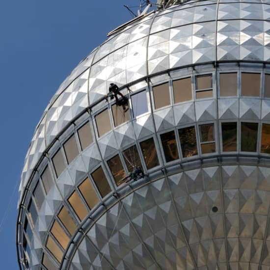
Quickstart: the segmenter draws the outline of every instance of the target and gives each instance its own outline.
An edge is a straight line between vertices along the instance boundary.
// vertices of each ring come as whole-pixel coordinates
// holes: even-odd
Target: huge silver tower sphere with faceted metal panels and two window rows
[[[160,2],[45,109],[20,269],[270,269],[270,1]]]

